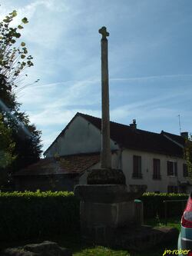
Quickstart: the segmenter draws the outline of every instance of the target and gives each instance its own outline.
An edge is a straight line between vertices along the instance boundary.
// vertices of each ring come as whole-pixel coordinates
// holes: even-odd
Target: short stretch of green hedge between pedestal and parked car
[[[186,200],[189,194],[174,193],[144,193],[140,198],[144,204],[144,218],[165,217],[164,200]],[[181,216],[184,211],[185,201],[167,203],[167,217]]]

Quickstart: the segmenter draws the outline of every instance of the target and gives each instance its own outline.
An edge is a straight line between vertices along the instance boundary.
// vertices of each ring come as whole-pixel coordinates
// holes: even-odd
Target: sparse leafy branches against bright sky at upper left
[[[22,23],[16,28],[12,28],[10,23],[17,15],[16,11],[9,13],[2,22],[0,22],[0,74],[6,78],[10,86],[18,86],[15,80],[21,75],[26,67],[31,67],[31,55],[28,55],[28,49],[25,42],[21,42],[19,47],[15,47],[23,29],[23,25],[28,23],[27,18],[22,18]]]

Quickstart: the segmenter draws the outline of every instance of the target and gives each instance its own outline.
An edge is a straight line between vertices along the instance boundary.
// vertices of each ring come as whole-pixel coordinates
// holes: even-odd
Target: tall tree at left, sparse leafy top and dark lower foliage
[[[0,114],[3,125],[12,131],[11,137],[15,143],[12,153],[16,155],[12,165],[7,168],[9,173],[25,168],[38,161],[41,156],[41,131],[20,110],[21,105],[14,93],[24,76],[25,68],[33,65],[25,42],[15,46],[21,37],[20,31],[28,23],[27,18],[22,18],[22,23],[12,28],[10,23],[16,15],[17,12],[13,11],[0,22]]]

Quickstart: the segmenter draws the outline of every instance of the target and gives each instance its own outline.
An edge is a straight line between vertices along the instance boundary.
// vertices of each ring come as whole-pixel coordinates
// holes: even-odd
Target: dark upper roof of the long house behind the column
[[[92,125],[101,130],[101,118],[95,118],[91,115],[78,113]],[[121,125],[114,121],[110,121],[111,139],[116,141],[123,148],[131,148],[141,151],[155,152],[165,155],[173,155],[183,157],[183,148],[166,138],[162,133],[154,133],[140,129],[131,128],[129,125]],[[168,134],[168,133],[167,133]],[[169,134],[172,135],[172,134]],[[173,135],[178,141],[183,138]],[[183,145],[183,144],[182,144]]]

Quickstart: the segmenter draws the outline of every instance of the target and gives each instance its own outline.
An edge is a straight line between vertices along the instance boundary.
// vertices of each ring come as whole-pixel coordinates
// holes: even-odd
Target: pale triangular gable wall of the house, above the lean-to
[[[111,149],[118,149],[111,140]],[[69,125],[65,134],[59,136],[45,152],[46,157],[58,155],[76,155],[101,151],[101,131],[81,116],[77,116]]]

